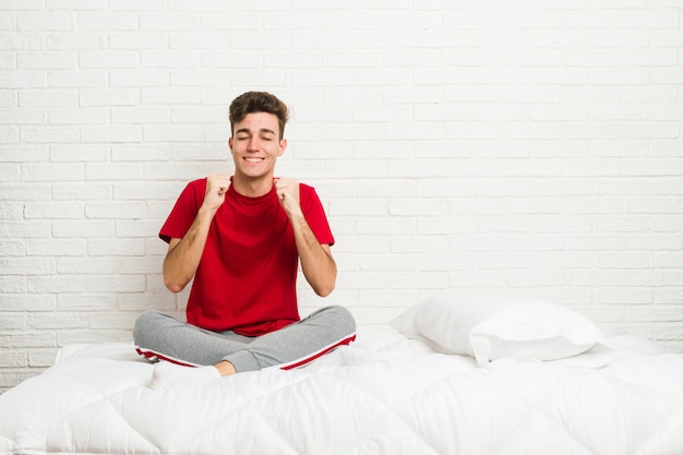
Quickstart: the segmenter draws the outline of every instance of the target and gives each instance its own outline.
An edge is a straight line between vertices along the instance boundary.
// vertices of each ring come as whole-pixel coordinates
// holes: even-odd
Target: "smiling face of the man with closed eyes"
[[[283,155],[287,141],[279,139],[277,116],[267,112],[248,113],[235,124],[228,145],[235,160],[235,173],[251,179],[272,178],[277,157]]]

